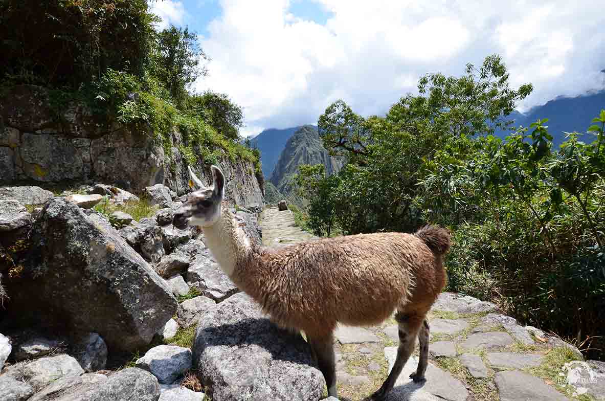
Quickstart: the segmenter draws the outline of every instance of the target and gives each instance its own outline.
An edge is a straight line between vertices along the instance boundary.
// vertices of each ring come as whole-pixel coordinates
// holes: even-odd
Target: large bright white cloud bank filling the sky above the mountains
[[[462,74],[501,54],[514,85],[531,82],[527,108],[602,85],[602,0],[315,0],[325,25],[289,11],[288,0],[222,0],[202,41],[212,61],[198,90],[244,107],[246,133],[315,123],[342,98],[381,114],[428,72]]]

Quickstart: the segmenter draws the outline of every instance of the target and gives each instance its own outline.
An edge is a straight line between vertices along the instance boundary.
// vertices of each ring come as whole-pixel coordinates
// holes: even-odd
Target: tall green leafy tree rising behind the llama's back
[[[489,56],[480,68],[467,65],[461,77],[438,73],[422,77],[420,94],[402,97],[385,117],[364,119],[342,100],[326,108],[318,120],[324,146],[345,155],[350,165],[342,170],[336,191],[337,203],[349,205],[348,215],[355,217],[343,230],[413,231],[425,224],[426,197],[439,195],[420,183],[431,174],[436,155],[448,149],[454,159],[472,157],[474,145],[466,139],[507,128],[511,121],[506,116],[531,93],[531,85],[515,90],[508,79],[500,57]],[[456,186],[455,181],[448,184]],[[434,190],[439,191],[439,185]],[[465,195],[456,187],[451,192]],[[448,202],[439,207],[460,215],[460,205]]]

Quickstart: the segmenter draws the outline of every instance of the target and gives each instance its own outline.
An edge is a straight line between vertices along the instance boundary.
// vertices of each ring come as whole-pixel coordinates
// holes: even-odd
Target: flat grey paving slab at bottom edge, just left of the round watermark
[[[520,371],[496,373],[495,385],[500,401],[567,401],[567,397],[542,379]]]

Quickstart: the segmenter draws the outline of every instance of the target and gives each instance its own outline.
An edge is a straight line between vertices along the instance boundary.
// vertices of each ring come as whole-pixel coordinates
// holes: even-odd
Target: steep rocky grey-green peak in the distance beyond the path
[[[326,174],[338,172],[342,161],[328,154],[316,126],[304,125],[287,140],[269,181],[284,195],[292,195],[293,178],[300,165],[322,164]]]

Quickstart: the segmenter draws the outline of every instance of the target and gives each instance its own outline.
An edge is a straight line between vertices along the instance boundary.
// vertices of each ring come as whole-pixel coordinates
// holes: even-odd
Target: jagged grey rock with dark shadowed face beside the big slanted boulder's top
[[[142,218],[134,226],[124,227],[120,230],[120,235],[148,262],[159,262],[165,253],[162,228],[153,218]]]

